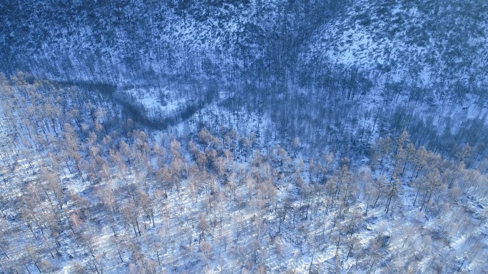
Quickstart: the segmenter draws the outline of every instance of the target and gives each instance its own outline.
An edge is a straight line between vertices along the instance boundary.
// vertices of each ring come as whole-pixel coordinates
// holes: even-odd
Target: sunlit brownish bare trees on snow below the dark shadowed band
[[[398,131],[357,163],[244,122],[154,136],[96,93],[0,82],[2,272],[293,273],[293,252],[309,273],[487,267],[468,144],[449,160]]]

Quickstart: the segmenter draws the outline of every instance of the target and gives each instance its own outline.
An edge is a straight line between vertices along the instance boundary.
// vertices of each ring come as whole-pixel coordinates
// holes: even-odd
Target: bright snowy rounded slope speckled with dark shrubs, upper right
[[[380,71],[393,81],[483,88],[488,81],[484,1],[355,1],[315,31],[305,61]]]

